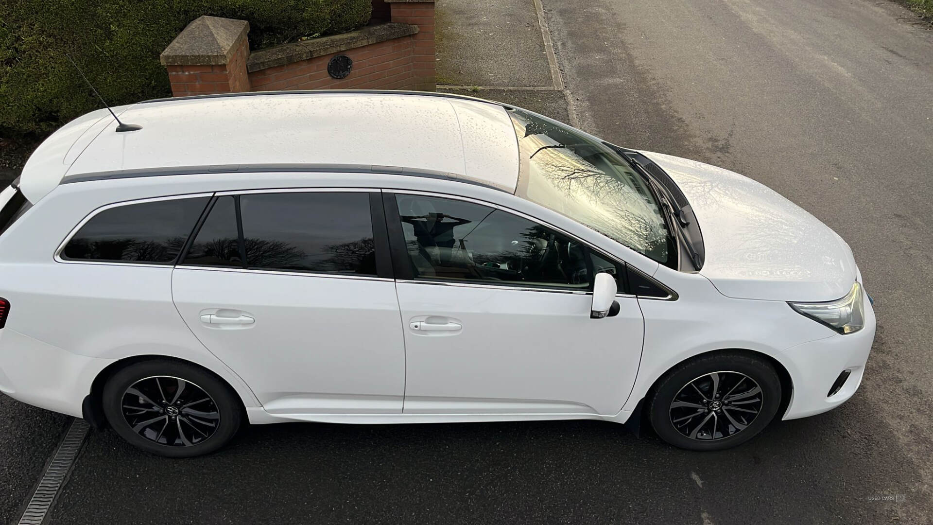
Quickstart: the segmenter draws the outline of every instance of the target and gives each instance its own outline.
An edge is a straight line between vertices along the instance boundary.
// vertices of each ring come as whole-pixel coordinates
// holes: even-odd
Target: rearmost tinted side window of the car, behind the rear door
[[[62,258],[171,264],[208,200],[195,197],[105,209],[81,226],[65,246]]]

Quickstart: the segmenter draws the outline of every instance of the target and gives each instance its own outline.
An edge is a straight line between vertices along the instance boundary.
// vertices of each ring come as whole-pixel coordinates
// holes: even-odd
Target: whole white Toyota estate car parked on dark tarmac
[[[0,390],[136,447],[606,419],[717,450],[861,382],[851,249],[730,171],[440,93],[114,110],[0,195]]]

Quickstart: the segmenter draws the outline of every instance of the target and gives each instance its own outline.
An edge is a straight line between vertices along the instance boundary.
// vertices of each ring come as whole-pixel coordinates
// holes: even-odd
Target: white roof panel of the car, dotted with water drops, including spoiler
[[[503,106],[426,92],[256,92],[159,99],[114,108],[142,129],[116,131],[97,110],[51,135],[23,167],[34,202],[89,174],[214,166],[370,166],[437,173],[515,192],[517,138]],[[222,171],[234,171],[225,169]]]

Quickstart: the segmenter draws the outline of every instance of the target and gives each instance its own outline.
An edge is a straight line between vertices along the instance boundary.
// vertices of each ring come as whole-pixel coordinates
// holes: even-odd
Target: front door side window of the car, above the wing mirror
[[[591,251],[564,234],[489,206],[422,195],[396,199],[416,278],[592,289]],[[616,272],[602,262],[600,271]]]

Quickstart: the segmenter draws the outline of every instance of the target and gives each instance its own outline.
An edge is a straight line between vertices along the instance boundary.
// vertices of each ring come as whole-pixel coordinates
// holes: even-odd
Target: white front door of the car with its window
[[[641,310],[621,294],[617,316],[590,310],[593,276],[620,274],[620,263],[493,206],[386,195],[413,274],[397,281],[406,414],[619,412],[641,357]]]

